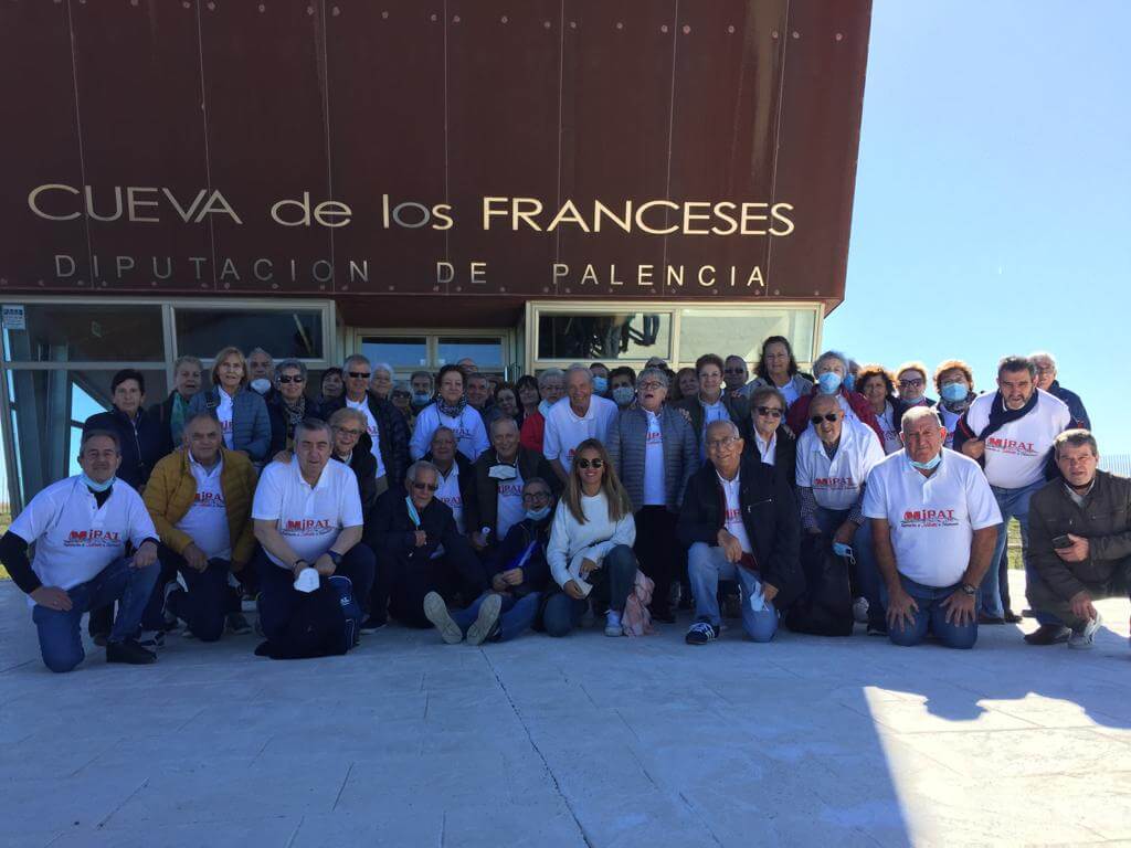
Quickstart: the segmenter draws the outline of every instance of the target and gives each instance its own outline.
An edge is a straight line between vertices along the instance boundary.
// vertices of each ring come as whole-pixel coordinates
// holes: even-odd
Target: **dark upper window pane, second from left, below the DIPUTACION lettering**
[[[261,347],[276,361],[321,360],[325,356],[321,310],[243,311],[178,306],[176,352],[211,358],[227,345],[247,353]]]

